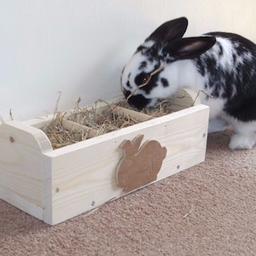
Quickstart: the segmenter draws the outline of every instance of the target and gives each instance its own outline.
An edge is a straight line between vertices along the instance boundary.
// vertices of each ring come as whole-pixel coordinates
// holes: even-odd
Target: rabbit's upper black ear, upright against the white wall
[[[165,42],[182,38],[188,27],[188,20],[185,17],[170,20],[159,26],[147,39],[155,42]]]

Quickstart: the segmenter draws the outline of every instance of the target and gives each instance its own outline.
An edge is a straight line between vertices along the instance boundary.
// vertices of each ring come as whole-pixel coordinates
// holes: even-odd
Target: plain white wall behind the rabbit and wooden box
[[[119,96],[122,67],[166,20],[256,42],[255,14],[255,0],[0,0],[0,115],[53,113],[58,91],[60,110]]]

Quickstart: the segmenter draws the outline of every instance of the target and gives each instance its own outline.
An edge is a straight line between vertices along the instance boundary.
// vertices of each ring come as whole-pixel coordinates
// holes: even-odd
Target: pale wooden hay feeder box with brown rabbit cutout
[[[3,123],[0,199],[54,225],[201,163],[208,107],[195,92],[179,90],[172,109],[176,112],[152,118],[116,108],[140,123],[100,136],[90,129],[90,139],[57,149],[41,130],[53,115]],[[68,129],[87,129],[63,122]]]

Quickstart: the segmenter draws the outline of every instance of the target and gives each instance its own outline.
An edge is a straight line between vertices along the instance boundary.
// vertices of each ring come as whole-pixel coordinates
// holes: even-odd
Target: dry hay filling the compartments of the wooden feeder
[[[123,114],[116,111],[116,107],[131,108],[125,101],[105,102],[102,107],[102,100],[96,102],[95,106],[79,107],[77,102],[76,108],[71,112],[55,111],[53,119],[42,129],[54,149],[65,147],[73,143],[79,143],[90,138],[90,131],[94,131],[95,136],[106,134],[111,131],[136,125],[139,120],[132,118],[129,114]],[[99,105],[99,106],[98,106]],[[171,102],[160,102],[155,108],[143,109],[140,113],[147,114],[154,118],[172,113]],[[79,125],[84,125],[84,129],[67,129],[64,120],[67,119]]]

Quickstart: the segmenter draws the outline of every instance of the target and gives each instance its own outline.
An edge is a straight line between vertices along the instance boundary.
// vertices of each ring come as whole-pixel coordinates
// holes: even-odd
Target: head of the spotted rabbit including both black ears
[[[175,67],[170,73],[172,63],[193,59],[215,44],[214,37],[183,38],[187,26],[184,17],[167,21],[132,55],[121,75],[121,87],[131,106],[141,110],[153,107],[159,98],[172,96],[179,79]]]

